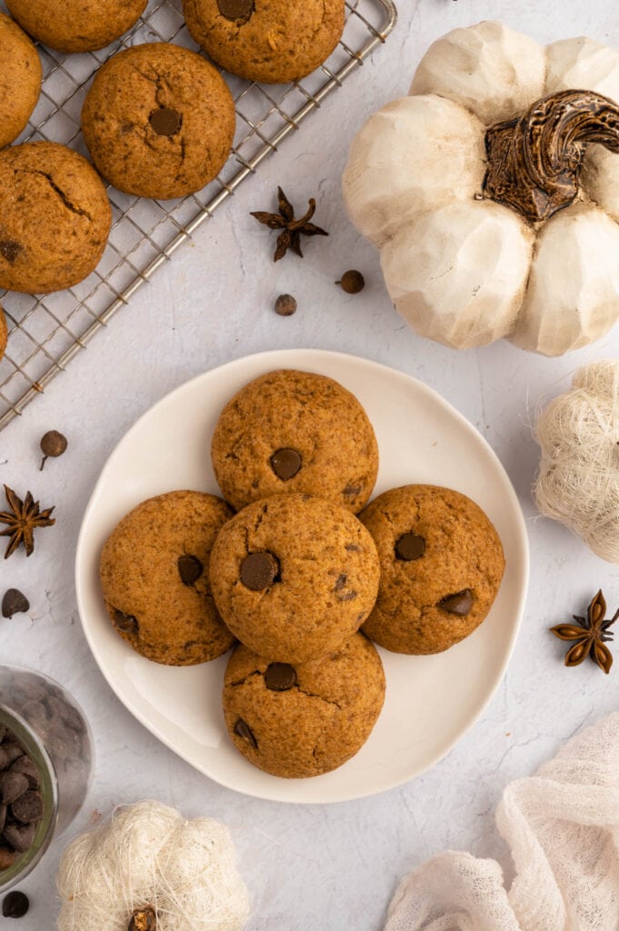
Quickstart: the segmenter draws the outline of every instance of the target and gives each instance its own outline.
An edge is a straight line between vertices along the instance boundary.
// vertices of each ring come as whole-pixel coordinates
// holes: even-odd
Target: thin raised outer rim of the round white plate
[[[298,358],[300,354],[303,354],[302,360]],[[511,631],[510,631],[510,634],[509,634],[509,637],[506,643],[505,656],[504,656],[502,663],[495,671],[493,681],[491,684],[491,688],[488,690],[488,694],[485,695],[484,700],[479,704],[478,708],[476,709],[475,714],[472,715],[471,720],[464,724],[464,726],[458,731],[457,735],[455,735],[453,739],[448,743],[447,747],[437,749],[436,754],[429,760],[429,762],[425,762],[424,765],[422,765],[421,767],[418,767],[414,771],[411,771],[408,776],[405,776],[403,778],[400,778],[400,777],[391,778],[390,780],[387,780],[385,784],[382,783],[377,789],[370,789],[370,790],[360,789],[357,791],[352,790],[352,792],[349,792],[348,794],[343,795],[341,797],[326,798],[322,801],[317,801],[316,799],[303,799],[303,798],[294,798],[294,799],[282,798],[281,796],[277,794],[276,789],[274,789],[273,792],[270,792],[270,791],[267,791],[266,789],[252,790],[250,788],[245,788],[245,787],[239,788],[238,785],[236,785],[233,781],[228,781],[220,775],[214,776],[211,772],[208,771],[208,769],[204,765],[200,764],[199,762],[196,762],[195,759],[193,759],[189,753],[183,752],[181,749],[178,749],[177,747],[172,746],[171,741],[168,740],[168,737],[166,737],[159,731],[156,724],[152,721],[149,721],[147,716],[142,714],[140,708],[137,708],[130,699],[126,697],[121,697],[121,695],[119,695],[118,691],[116,690],[113,682],[111,681],[110,674],[108,674],[108,669],[106,665],[102,663],[97,646],[95,642],[92,640],[90,631],[88,630],[87,625],[83,619],[83,615],[87,614],[87,612],[84,606],[83,592],[82,592],[82,577],[84,575],[84,572],[87,571],[87,568],[88,568],[87,566],[84,565],[84,562],[83,562],[84,560],[84,555],[83,555],[84,545],[83,544],[84,544],[84,538],[87,533],[87,521],[91,516],[91,512],[95,509],[96,501],[99,497],[101,484],[103,483],[103,480],[105,479],[107,473],[114,466],[114,460],[116,456],[120,455],[119,448],[125,443],[125,441],[134,432],[138,432],[142,421],[145,420],[147,417],[150,417],[156,411],[157,408],[168,403],[176,395],[181,394],[183,391],[187,390],[191,385],[194,385],[196,382],[199,382],[200,380],[202,380],[208,375],[212,375],[216,371],[225,373],[226,371],[230,369],[235,369],[235,367],[237,366],[242,366],[244,363],[247,363],[249,361],[259,362],[259,363],[262,363],[262,361],[264,361],[264,363],[266,363],[267,359],[274,359],[274,361],[276,362],[276,364],[274,364],[273,366],[274,369],[275,368],[298,368],[300,367],[303,370],[303,366],[311,364],[312,358],[319,358],[323,360],[325,358],[328,358],[332,361],[341,359],[341,360],[345,360],[346,362],[353,361],[354,363],[362,363],[364,365],[369,365],[373,369],[380,369],[383,371],[383,373],[385,374],[388,373],[389,376],[392,378],[395,376],[402,383],[408,383],[410,385],[410,382],[412,382],[414,383],[416,388],[421,391],[422,394],[425,394],[431,397],[433,401],[439,405],[439,407],[441,407],[443,410],[448,412],[451,417],[455,417],[455,419],[458,420],[460,424],[464,427],[466,432],[468,432],[469,434],[472,434],[477,439],[477,441],[480,443],[480,445],[485,448],[485,452],[490,456],[491,460],[493,461],[494,466],[498,468],[499,474],[501,475],[502,479],[504,479],[505,492],[509,496],[510,503],[512,505],[512,510],[516,518],[514,521],[514,530],[516,531],[514,535],[514,545],[516,547],[518,558],[519,558],[518,559],[518,562],[519,562],[518,606],[517,606],[517,611],[514,614],[514,624],[513,624],[513,627],[511,628]],[[298,363],[297,365],[293,363],[293,360],[295,359]],[[310,361],[307,362],[305,361],[306,359],[309,359]],[[265,369],[264,371],[267,371],[267,370]],[[330,377],[334,377],[334,376],[330,376]],[[357,799],[370,798],[372,796],[379,795],[383,792],[389,791],[390,789],[396,789],[400,786],[406,785],[411,780],[432,770],[437,765],[438,762],[443,760],[451,752],[451,750],[454,749],[461,742],[461,740],[464,739],[464,736],[467,735],[468,732],[475,726],[475,724],[479,721],[479,718],[484,713],[486,708],[488,708],[488,706],[491,703],[492,698],[494,697],[494,695],[496,695],[496,692],[501,682],[505,678],[505,671],[509,665],[512,654],[514,652],[516,641],[518,640],[518,633],[519,633],[520,626],[522,623],[524,607],[525,607],[527,594],[528,594],[529,577],[530,577],[529,535],[527,533],[527,525],[524,519],[524,515],[522,513],[522,508],[518,500],[518,494],[514,488],[512,480],[510,479],[505,469],[505,466],[499,459],[497,453],[494,452],[494,450],[492,449],[488,440],[482,436],[482,434],[479,432],[477,427],[473,425],[464,416],[463,413],[458,411],[457,408],[453,407],[450,401],[448,401],[446,398],[443,398],[443,396],[439,394],[439,392],[437,392],[435,388],[432,388],[429,385],[426,385],[423,381],[416,378],[414,375],[410,375],[409,372],[407,371],[402,371],[401,369],[395,369],[392,366],[384,364],[384,362],[377,362],[374,359],[367,358],[364,356],[357,356],[356,354],[352,354],[352,353],[343,353],[337,350],[330,350],[330,349],[316,349],[316,348],[304,348],[304,347],[289,348],[289,349],[266,349],[266,350],[262,350],[261,352],[249,353],[249,355],[240,356],[234,359],[229,359],[227,362],[223,362],[222,365],[214,366],[211,369],[207,369],[206,371],[199,372],[197,375],[194,375],[192,378],[188,379],[187,381],[182,382],[181,385],[177,385],[175,388],[172,388],[161,398],[158,398],[154,404],[152,404],[144,412],[142,412],[141,415],[138,417],[138,419],[135,420],[129,426],[128,430],[126,430],[125,433],[120,437],[120,439],[117,440],[117,442],[114,445],[114,449],[108,455],[92,487],[92,490],[88,496],[87,506],[85,507],[82,520],[80,523],[80,529],[79,529],[79,533],[77,536],[77,544],[76,544],[76,549],[75,549],[75,562],[74,562],[74,585],[75,585],[75,594],[76,594],[76,600],[77,600],[77,611],[78,611],[78,615],[80,619],[80,625],[82,627],[82,632],[84,633],[84,636],[86,638],[90,653],[92,654],[99,670],[101,671],[101,674],[104,680],[107,682],[108,686],[110,687],[110,689],[112,690],[112,692],[114,693],[118,701],[125,708],[127,708],[128,712],[138,722],[140,722],[141,726],[144,727],[150,734],[154,735],[155,738],[159,740],[165,747],[167,747],[169,750],[171,750],[173,753],[179,756],[182,760],[184,760],[185,762],[193,766],[195,770],[197,770],[203,776],[207,776],[209,779],[212,779],[213,782],[217,783],[218,785],[222,786],[225,789],[230,789],[235,792],[240,792],[241,794],[247,795],[250,798],[258,798],[264,801],[286,803],[286,804],[306,804],[306,805],[336,804],[336,803],[341,803],[341,802],[351,802],[351,801],[356,801]],[[278,780],[276,776],[274,776],[273,778],[275,780],[274,785],[276,785],[277,782],[280,780]],[[288,782],[289,780],[286,780],[286,781]],[[305,780],[296,780],[296,781],[301,783]],[[314,782],[315,779],[312,779],[311,781]]]

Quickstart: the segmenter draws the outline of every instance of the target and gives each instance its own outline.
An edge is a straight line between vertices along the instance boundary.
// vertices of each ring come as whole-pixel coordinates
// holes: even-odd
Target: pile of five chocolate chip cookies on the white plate
[[[222,410],[211,457],[227,504],[169,492],[111,534],[108,613],[157,662],[204,662],[239,641],[223,684],[235,747],[276,776],[329,772],[383,707],[371,641],[406,654],[461,641],[490,611],[501,542],[450,489],[408,485],[368,505],[374,431],[322,375],[272,371],[245,385]]]

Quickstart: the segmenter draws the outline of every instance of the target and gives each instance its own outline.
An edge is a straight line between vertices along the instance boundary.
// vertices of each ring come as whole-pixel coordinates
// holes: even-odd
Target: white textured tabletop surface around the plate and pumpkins
[[[563,645],[546,628],[585,609],[601,586],[619,605],[617,570],[558,525],[535,519],[530,489],[538,461],[532,417],[564,390],[572,371],[616,356],[619,331],[567,358],[526,355],[509,344],[457,354],[409,331],[392,308],[378,255],[347,221],[340,177],[348,143],[370,111],[406,93],[425,47],[457,25],[504,18],[541,42],[589,34],[619,46],[613,0],[399,0],[386,45],[335,93],[280,151],[205,223],[195,240],[99,334],[19,421],[0,434],[0,481],[56,504],[53,530],[39,533],[32,559],[0,563],[0,594],[19,587],[28,615],[0,618],[0,660],[41,669],[83,704],[96,735],[97,774],[86,809],[152,796],[188,815],[231,828],[253,912],[248,931],[377,931],[398,879],[446,848],[503,858],[493,810],[505,784],[532,772],[581,725],[617,707],[619,663],[607,678],[588,661],[562,665]],[[276,184],[298,207],[316,196],[316,223],[330,237],[307,241],[306,258],[271,263],[273,234],[249,217],[270,209]],[[333,281],[357,267],[367,278],[348,297]],[[299,300],[276,317],[277,293]],[[288,806],[222,789],[177,759],[115,699],[81,632],[74,548],[101,466],[128,426],[171,388],[231,358],[263,349],[338,349],[424,380],[469,418],[507,469],[528,522],[532,580],[524,622],[505,681],[464,740],[431,772],[399,789],[354,803]],[[70,449],[43,473],[38,440],[61,430]],[[180,452],[180,454],[182,454]],[[421,708],[403,708],[403,717]],[[72,830],[73,832],[73,830]],[[54,843],[23,884],[32,897],[22,931],[51,927]],[[505,870],[510,866],[505,862]],[[3,925],[4,926],[4,925]]]

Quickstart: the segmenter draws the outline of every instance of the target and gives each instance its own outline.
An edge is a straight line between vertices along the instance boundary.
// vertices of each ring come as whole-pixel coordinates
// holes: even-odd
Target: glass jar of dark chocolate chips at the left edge
[[[0,894],[74,819],[92,770],[82,710],[38,672],[0,666]]]

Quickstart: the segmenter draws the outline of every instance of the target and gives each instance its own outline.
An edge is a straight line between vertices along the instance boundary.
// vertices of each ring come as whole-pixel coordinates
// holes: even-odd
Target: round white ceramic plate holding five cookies
[[[173,668],[143,659],[114,632],[99,585],[101,546],[116,522],[151,495],[189,488],[219,493],[210,437],[224,403],[262,372],[329,375],[352,391],[376,431],[381,466],[374,493],[431,482],[468,494],[505,548],[505,577],[486,621],[435,656],[381,651],[384,708],[366,745],[340,769],[281,779],[250,765],[228,739],[221,709],[227,657]],[[146,412],[116,446],[87,506],[77,545],[79,613],[101,671],[132,714],[169,748],[217,782],[281,802],[340,802],[389,789],[424,772],[476,721],[501,681],[522,613],[528,545],[503,466],[464,417],[434,391],[367,359],[280,350],[229,362],[182,385]]]

